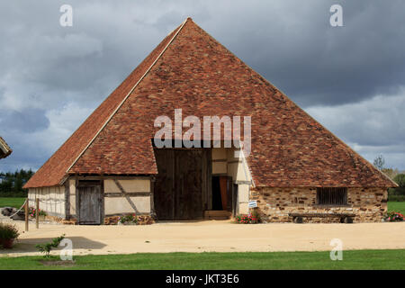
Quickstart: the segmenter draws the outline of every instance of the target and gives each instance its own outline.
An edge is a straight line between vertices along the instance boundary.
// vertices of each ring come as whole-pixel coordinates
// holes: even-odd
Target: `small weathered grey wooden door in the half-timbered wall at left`
[[[101,184],[79,181],[77,193],[79,224],[100,225],[103,212]]]

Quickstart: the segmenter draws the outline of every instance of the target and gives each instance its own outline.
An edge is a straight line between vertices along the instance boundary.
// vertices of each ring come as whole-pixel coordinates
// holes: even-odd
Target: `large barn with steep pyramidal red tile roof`
[[[192,147],[181,141],[208,116],[220,119],[218,134],[205,133],[210,124],[192,133]],[[24,187],[50,215],[102,224],[127,213],[190,220],[249,211],[267,222],[381,221],[392,186],[187,18]]]

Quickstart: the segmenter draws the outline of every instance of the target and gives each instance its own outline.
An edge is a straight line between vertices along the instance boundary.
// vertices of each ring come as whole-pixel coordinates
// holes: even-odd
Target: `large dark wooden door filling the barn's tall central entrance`
[[[211,179],[209,149],[155,149],[154,188],[158,220],[201,219]]]

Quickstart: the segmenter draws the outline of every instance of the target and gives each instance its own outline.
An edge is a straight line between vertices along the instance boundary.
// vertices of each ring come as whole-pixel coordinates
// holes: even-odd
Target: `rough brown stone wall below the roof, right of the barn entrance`
[[[316,188],[257,187],[250,199],[257,200],[259,213],[267,222],[291,222],[288,213],[356,214],[355,222],[381,222],[387,211],[387,190],[383,188],[348,188],[347,206],[317,205]],[[338,218],[305,218],[304,222],[339,222]]]

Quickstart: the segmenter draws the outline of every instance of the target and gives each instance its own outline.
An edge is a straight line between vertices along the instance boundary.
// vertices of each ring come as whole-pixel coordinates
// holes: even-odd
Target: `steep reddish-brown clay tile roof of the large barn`
[[[158,115],[252,117],[257,186],[391,187],[392,181],[187,18],[87,118],[25,188],[67,175],[153,175]]]

